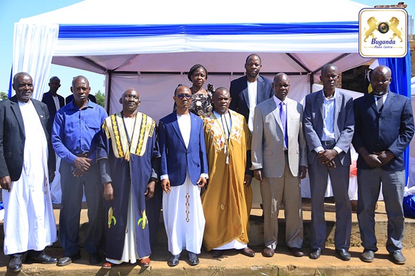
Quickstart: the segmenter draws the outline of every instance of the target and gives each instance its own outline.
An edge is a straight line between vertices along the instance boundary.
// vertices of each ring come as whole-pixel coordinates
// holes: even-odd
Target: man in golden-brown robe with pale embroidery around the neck
[[[212,100],[214,112],[202,117],[210,176],[202,196],[203,244],[213,257],[227,249],[254,257],[247,247],[252,206],[251,133],[245,118],[228,109],[232,99],[227,89],[216,89]]]

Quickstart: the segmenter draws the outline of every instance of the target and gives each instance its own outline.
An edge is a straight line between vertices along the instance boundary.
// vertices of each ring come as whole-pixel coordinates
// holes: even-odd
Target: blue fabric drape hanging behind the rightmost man
[[[407,49],[409,49],[409,42]],[[379,65],[385,65],[392,70],[392,83],[389,90],[397,94],[411,97],[411,54],[409,50],[403,58],[382,58],[378,59]],[[409,147],[403,153],[405,160],[405,186],[407,185],[409,173]]]

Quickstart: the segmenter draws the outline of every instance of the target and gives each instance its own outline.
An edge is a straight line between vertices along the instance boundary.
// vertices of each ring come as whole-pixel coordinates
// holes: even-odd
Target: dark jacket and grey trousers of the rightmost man
[[[411,99],[389,92],[378,111],[374,96],[368,94],[354,100],[353,145],[369,153],[392,151],[394,158],[381,167],[372,168],[361,155],[357,160],[358,222],[363,247],[377,251],[374,233],[374,211],[381,189],[387,211],[387,242],[389,253],[401,251],[404,230],[403,189],[405,162],[403,151],[414,136]]]

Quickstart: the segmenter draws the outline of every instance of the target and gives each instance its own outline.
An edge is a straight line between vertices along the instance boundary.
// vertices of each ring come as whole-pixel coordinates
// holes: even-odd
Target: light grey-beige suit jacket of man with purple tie
[[[298,167],[307,167],[303,105],[290,98],[287,98],[287,137],[290,171],[298,176]],[[281,178],[285,167],[283,149],[283,126],[274,98],[270,98],[255,107],[251,169],[263,169],[265,178]]]

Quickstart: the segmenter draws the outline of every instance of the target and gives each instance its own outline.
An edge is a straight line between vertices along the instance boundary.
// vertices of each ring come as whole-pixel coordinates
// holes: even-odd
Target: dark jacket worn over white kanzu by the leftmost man
[[[48,140],[49,169],[54,171],[55,158],[50,134],[48,134],[48,107],[39,100],[32,99],[34,108],[39,114],[45,136]],[[30,138],[30,134],[28,134]],[[17,97],[13,96],[8,100],[0,102],[0,178],[10,176],[12,181],[19,180],[23,169],[23,151],[25,147],[25,132],[23,117],[21,116]]]

